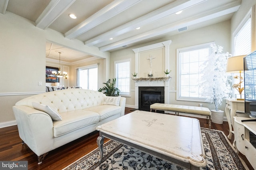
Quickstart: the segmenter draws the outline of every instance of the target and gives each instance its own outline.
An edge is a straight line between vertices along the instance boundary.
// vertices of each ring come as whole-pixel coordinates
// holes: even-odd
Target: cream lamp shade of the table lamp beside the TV
[[[229,57],[227,60],[227,73],[239,73],[244,71],[244,57],[246,55],[238,55],[234,57]]]

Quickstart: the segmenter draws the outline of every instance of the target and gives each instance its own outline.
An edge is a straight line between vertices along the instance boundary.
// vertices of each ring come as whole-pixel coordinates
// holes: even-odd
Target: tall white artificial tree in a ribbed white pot
[[[222,53],[223,47],[211,44],[212,53],[202,65],[202,94],[206,102],[213,103],[212,122],[222,124],[224,111],[219,110],[223,99],[231,95],[230,76],[226,73],[227,58],[230,53]],[[210,105],[211,107],[211,105]]]

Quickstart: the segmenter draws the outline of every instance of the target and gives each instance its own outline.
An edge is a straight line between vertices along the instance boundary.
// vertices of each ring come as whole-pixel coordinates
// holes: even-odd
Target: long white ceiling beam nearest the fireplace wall
[[[135,43],[138,41],[146,40],[148,38],[152,38],[154,36],[159,36],[162,34],[166,34],[168,32],[172,32],[174,30],[177,30],[178,28],[183,28],[185,26],[191,26],[194,24],[198,24],[200,22],[205,22],[207,20],[212,20],[214,18],[218,18],[220,16],[230,14],[233,12],[238,11],[238,8],[241,5],[241,0],[237,0],[235,2],[231,2],[229,4],[226,4],[224,6],[214,8],[212,10],[208,10],[206,12],[202,12],[198,15],[191,16],[189,18],[186,18],[184,20],[180,20],[178,22],[174,22],[171,24],[168,24],[166,26],[162,26],[160,28],[145,32],[143,34],[140,34],[138,36],[133,36],[130,38],[127,38],[125,40],[121,40],[119,42],[111,43],[109,45],[105,45],[103,47],[100,47],[100,51],[108,51],[112,50],[118,47],[122,47],[123,45],[128,45],[130,43]]]

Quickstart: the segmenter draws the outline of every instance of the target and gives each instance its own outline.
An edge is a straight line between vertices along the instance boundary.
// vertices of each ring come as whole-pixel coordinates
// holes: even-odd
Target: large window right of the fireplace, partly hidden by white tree
[[[211,43],[177,49],[177,100],[204,101],[200,94],[201,65],[211,53]]]

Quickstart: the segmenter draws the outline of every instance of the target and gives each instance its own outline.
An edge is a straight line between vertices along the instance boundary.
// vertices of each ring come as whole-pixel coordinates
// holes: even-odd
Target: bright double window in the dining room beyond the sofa
[[[98,91],[98,64],[79,67],[77,69],[77,85],[82,89]]]

